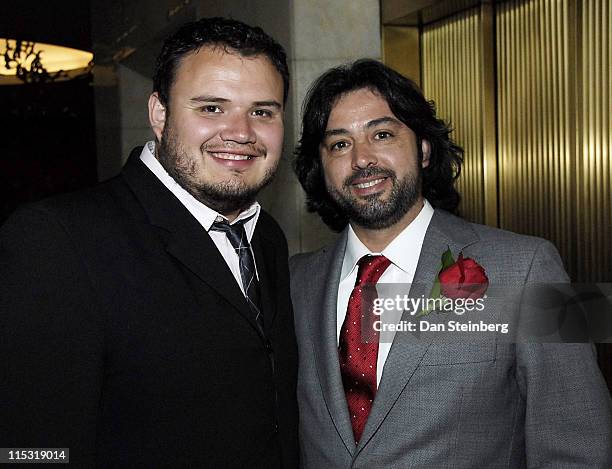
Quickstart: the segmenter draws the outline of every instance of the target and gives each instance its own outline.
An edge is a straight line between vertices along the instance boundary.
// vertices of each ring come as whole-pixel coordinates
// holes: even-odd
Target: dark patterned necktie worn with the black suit
[[[223,231],[236,251],[236,254],[238,254],[240,278],[242,280],[245,298],[253,313],[255,321],[257,321],[263,330],[263,315],[261,314],[259,282],[257,281],[257,274],[255,273],[255,259],[253,259],[251,245],[249,244],[246,231],[244,230],[244,223],[250,219],[251,218],[240,220],[233,225],[225,221],[215,222],[211,230]]]

